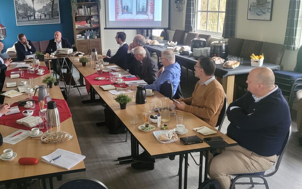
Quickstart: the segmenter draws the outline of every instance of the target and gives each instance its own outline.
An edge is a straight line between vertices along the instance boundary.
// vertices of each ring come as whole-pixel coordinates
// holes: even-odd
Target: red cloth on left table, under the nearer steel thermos
[[[32,116],[39,116],[39,111],[40,111],[40,105],[38,103],[38,97],[37,96],[33,96],[34,101],[36,102],[36,110],[34,111],[34,114]],[[66,101],[64,99],[51,99],[52,101],[56,102],[57,108],[59,110],[59,115],[60,115],[60,122],[62,123],[63,121],[65,121],[66,119],[71,117],[71,113],[69,110],[69,107],[66,103]],[[11,107],[14,106],[18,106],[18,102],[15,102],[13,104],[11,104]],[[8,116],[1,116],[0,118],[0,124],[1,125],[6,125],[9,127],[13,127],[16,129],[24,129],[24,130],[31,130],[32,128],[26,127],[24,125],[18,124],[16,123],[16,120],[24,118],[22,112],[24,110],[29,110],[30,108],[24,108],[24,106],[18,106],[20,113],[15,113],[15,114],[11,114]],[[35,127],[39,127],[39,125],[35,126]],[[40,129],[42,132],[46,131],[46,128],[44,126],[44,129]]]

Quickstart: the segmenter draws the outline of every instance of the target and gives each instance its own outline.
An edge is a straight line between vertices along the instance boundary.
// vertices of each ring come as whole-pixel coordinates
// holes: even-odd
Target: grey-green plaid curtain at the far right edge
[[[301,0],[291,0],[289,2],[287,25],[284,39],[285,49],[297,50],[299,48],[299,38],[301,34],[302,19]]]

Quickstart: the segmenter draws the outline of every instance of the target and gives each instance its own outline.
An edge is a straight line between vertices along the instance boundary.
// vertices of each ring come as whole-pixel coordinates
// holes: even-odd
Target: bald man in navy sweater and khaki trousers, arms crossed
[[[288,103],[266,67],[253,69],[246,80],[248,93],[230,104],[227,135],[237,146],[223,148],[210,160],[209,175],[229,189],[230,174],[266,171],[276,161],[291,125]]]

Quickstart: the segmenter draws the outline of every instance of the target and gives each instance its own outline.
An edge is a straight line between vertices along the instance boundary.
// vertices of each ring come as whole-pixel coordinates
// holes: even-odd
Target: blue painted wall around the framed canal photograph
[[[1,42],[4,44],[5,52],[12,47],[19,33],[24,33],[27,40],[45,41],[54,38],[56,31],[62,32],[62,37],[67,38],[70,44],[74,44],[71,5],[69,0],[59,0],[60,24],[40,24],[17,26],[14,0],[1,0],[0,23],[6,27],[6,38]]]

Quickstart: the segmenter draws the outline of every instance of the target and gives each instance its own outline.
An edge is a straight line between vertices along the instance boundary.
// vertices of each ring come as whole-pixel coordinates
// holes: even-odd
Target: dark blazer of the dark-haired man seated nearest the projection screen
[[[104,62],[109,62],[118,65],[119,67],[123,68],[124,70],[128,69],[127,64],[127,51],[129,45],[125,43],[122,47],[120,47],[117,52],[111,58],[103,58]]]

